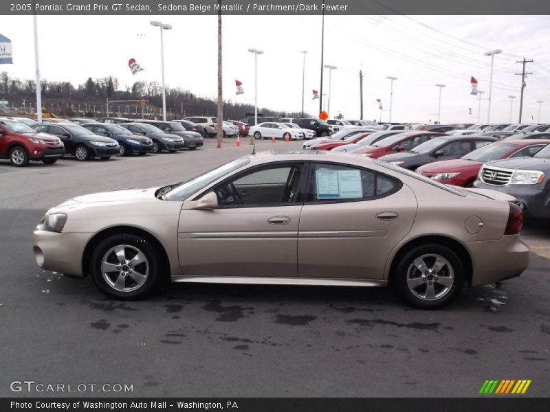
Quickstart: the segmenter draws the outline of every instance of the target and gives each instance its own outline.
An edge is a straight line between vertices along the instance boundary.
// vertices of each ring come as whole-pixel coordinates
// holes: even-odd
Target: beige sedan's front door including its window
[[[216,209],[182,209],[182,273],[296,277],[302,179],[301,163],[254,168],[214,187]]]

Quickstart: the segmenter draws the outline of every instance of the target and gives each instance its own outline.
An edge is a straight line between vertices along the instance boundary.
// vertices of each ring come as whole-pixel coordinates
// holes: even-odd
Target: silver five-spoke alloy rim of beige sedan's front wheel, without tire
[[[132,292],[146,282],[149,262],[145,253],[129,244],[119,244],[103,255],[101,275],[111,288]]]

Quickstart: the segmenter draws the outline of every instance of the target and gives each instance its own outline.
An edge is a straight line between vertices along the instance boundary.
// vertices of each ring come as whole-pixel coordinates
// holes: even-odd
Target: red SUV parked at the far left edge
[[[46,133],[36,133],[24,123],[0,119],[0,158],[10,159],[14,166],[26,166],[29,161],[56,163],[65,155],[61,139]]]

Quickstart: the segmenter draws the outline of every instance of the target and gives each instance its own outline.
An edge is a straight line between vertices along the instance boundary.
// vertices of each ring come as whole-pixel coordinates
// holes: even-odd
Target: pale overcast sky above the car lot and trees
[[[214,99],[217,94],[217,16],[39,16],[41,77],[82,84],[88,77],[114,76],[120,89],[138,80],[161,81],[159,28],[164,31],[166,87],[181,87]],[[364,75],[364,118],[392,122],[434,122],[441,90],[441,124],[478,121],[480,101],[470,95],[470,76],[489,95],[494,56],[490,122],[518,121],[520,72],[527,64],[523,122],[550,122],[550,16],[325,16],[325,64],[334,65],[329,93],[325,69],[323,93],[330,94],[329,117],[360,117],[359,71]],[[13,65],[0,71],[21,79],[34,78],[32,16],[3,18],[0,34],[12,40]],[[276,111],[300,111],[303,54],[305,111],[318,114],[321,16],[223,16],[223,98],[254,104],[254,55],[258,56],[258,105]],[[144,71],[131,74],[129,58]],[[393,98],[390,96],[390,80]],[[235,94],[235,80],[243,95]],[[508,96],[515,95],[511,100]],[[325,96],[325,109],[328,98]],[[382,100],[384,110],[378,109]],[[480,121],[487,122],[487,100],[481,100]],[[472,114],[469,114],[469,111]],[[200,115],[201,113],[195,113]],[[244,114],[244,113],[243,113]]]

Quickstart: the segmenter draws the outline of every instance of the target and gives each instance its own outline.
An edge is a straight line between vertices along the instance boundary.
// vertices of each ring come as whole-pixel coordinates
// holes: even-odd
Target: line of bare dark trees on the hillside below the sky
[[[56,115],[74,115],[72,108],[79,104],[105,104],[106,100],[147,100],[148,105],[162,107],[162,87],[158,82],[134,82],[131,86],[119,90],[118,79],[113,76],[103,78],[87,78],[82,84],[74,86],[71,82],[50,82],[41,80],[42,100],[45,106],[48,103],[54,108]],[[34,80],[21,80],[12,78],[8,72],[0,73],[0,100],[8,100],[10,106],[23,106],[23,100],[34,101],[36,96],[36,83]],[[56,111],[54,103],[61,104]],[[121,104],[122,106],[122,104]],[[216,116],[216,101],[191,93],[180,87],[166,88],[166,111],[171,108],[174,118],[192,115]],[[269,108],[258,108],[259,113],[267,117],[283,115],[287,117],[300,117],[300,113],[288,113],[272,111]],[[71,113],[68,113],[71,112]],[[225,119],[241,119],[246,113],[254,113],[252,104],[237,103],[231,100],[223,102],[223,117]],[[89,115],[91,113],[88,113]],[[305,114],[305,116],[309,116]]]

